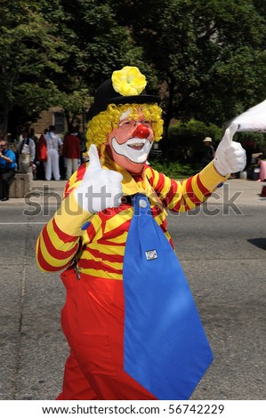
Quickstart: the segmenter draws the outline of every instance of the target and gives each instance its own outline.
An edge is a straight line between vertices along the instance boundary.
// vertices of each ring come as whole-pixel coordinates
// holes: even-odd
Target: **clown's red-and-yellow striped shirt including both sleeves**
[[[88,164],[88,163],[87,163]],[[185,181],[174,181],[145,165],[141,177],[133,177],[111,160],[106,151],[101,156],[103,168],[123,175],[123,194],[130,197],[144,193],[149,197],[151,214],[173,245],[166,228],[166,210],[185,212],[202,204],[225,180],[215,172],[213,163]],[[125,243],[133,206],[127,198],[117,208],[88,213],[77,205],[74,189],[85,174],[81,165],[66,185],[59,210],[45,226],[36,243],[36,261],[44,271],[69,267],[76,256],[81,271],[92,277],[122,280]],[[85,222],[90,224],[85,230]]]

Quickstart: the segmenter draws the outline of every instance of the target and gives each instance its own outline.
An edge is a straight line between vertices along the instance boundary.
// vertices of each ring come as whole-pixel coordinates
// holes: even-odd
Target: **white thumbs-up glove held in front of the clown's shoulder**
[[[78,205],[89,213],[119,206],[123,196],[123,175],[101,168],[98,151],[94,144],[91,145],[88,156],[90,162],[83,181],[75,190]]]

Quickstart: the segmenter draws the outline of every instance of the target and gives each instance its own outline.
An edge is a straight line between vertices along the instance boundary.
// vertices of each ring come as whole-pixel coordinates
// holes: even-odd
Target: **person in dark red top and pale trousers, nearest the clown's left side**
[[[69,180],[71,175],[76,172],[80,161],[80,141],[74,126],[70,126],[69,133],[64,138],[62,153],[65,159],[66,179]]]

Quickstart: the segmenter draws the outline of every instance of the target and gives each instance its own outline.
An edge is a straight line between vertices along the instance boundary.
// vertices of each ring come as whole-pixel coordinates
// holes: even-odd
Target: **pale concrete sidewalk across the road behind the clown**
[[[60,205],[67,181],[43,181],[35,180],[33,189],[28,196],[22,198],[11,198],[7,202],[0,202],[1,206],[29,205],[30,202],[37,202],[40,205]],[[252,181],[242,179],[231,179],[225,181],[221,188],[215,190],[209,197],[208,203],[215,205],[226,205],[232,196],[236,197],[238,205],[259,205],[266,207],[266,197],[261,197],[262,187],[266,181]],[[235,194],[238,194],[235,195]]]

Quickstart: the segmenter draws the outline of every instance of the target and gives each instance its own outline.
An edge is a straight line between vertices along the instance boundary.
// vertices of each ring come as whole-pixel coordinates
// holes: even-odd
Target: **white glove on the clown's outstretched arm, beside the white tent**
[[[238,125],[232,123],[225,131],[214,157],[214,167],[222,176],[238,173],[246,167],[246,151],[239,142],[232,141]]]

